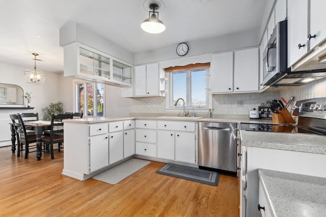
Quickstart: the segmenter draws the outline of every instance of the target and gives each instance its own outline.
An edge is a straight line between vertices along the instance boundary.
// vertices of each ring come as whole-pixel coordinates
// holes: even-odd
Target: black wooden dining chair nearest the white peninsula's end
[[[61,148],[63,148],[61,145],[64,142],[64,136],[63,136],[63,122],[55,122],[55,121],[62,121],[63,119],[72,119],[73,114],[71,113],[65,113],[65,114],[58,114],[51,116],[51,127],[50,127],[50,134],[44,135],[44,137],[41,138],[41,142],[45,144],[45,150],[48,152],[48,149],[50,147],[50,153],[51,153],[51,159],[55,159],[55,156],[53,154],[53,144],[58,143],[58,150],[60,152]]]

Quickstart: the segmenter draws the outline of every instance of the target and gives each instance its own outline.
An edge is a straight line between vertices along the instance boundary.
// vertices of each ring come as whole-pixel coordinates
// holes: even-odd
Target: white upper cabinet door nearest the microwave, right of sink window
[[[234,51],[234,91],[258,91],[258,48]]]

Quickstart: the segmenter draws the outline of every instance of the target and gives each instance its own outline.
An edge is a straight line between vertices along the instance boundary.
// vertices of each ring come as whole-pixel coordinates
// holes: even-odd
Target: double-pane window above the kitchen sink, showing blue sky
[[[186,107],[208,108],[207,72],[208,68],[171,72],[170,108],[174,108],[179,98],[184,100]],[[183,106],[183,102],[179,101],[177,106]]]

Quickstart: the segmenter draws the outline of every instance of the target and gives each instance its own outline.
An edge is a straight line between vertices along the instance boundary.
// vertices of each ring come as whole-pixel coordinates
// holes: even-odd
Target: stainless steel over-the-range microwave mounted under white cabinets
[[[263,85],[270,85],[273,78],[286,74],[287,20],[277,23],[263,52]]]

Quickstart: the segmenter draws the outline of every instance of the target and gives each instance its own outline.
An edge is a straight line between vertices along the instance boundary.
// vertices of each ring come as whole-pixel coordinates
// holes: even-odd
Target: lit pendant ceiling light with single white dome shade
[[[147,33],[152,33],[152,34],[157,34],[161,33],[165,30],[165,25],[163,24],[162,21],[158,19],[158,12],[155,10],[158,10],[159,7],[157,4],[152,3],[149,5],[149,9],[153,10],[149,12],[149,18],[144,20],[142,23],[141,27],[142,29],[147,32]],[[151,15],[152,13],[152,15]],[[157,17],[155,15],[157,14]]]

